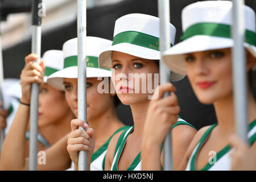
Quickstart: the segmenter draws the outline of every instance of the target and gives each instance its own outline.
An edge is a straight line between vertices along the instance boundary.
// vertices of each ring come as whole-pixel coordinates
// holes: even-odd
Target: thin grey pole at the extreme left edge
[[[0,8],[1,8],[1,1],[0,1]],[[0,24],[1,24],[1,12],[0,12]],[[0,110],[3,110],[3,94],[2,94],[2,87],[3,87],[3,56],[2,56],[2,32],[0,27],[0,102],[2,106],[0,106]],[[5,129],[0,128],[0,152],[2,151],[3,140],[5,140]]]

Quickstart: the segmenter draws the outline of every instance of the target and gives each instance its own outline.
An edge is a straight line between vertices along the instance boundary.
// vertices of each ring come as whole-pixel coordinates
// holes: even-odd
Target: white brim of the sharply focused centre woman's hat
[[[100,54],[98,58],[100,68],[112,69],[113,51],[127,53],[132,56],[142,57],[143,59],[160,60],[159,51],[134,44],[120,43],[106,48],[105,51]],[[171,81],[179,81],[184,77],[185,75],[172,73]]]

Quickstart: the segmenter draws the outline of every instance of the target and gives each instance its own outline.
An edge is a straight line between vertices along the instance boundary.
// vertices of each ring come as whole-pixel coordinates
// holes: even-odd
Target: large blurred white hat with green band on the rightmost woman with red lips
[[[232,27],[231,1],[202,1],[192,3],[182,11],[183,42],[176,44],[163,54],[163,61],[171,71],[186,75],[183,54],[212,49],[231,48],[234,41]],[[243,46],[254,57],[255,47],[255,13],[244,6],[246,40]],[[253,67],[256,70],[256,64]]]

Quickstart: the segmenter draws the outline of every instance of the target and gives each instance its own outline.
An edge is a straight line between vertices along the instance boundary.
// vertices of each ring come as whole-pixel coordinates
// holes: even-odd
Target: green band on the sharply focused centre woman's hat
[[[115,35],[112,46],[120,43],[130,43],[159,51],[159,38],[141,32],[126,31]]]

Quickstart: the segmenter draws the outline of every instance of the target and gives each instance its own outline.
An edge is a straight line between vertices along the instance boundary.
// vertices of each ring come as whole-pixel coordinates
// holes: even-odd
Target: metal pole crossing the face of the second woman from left
[[[77,0],[77,67],[78,118],[86,122],[86,0]],[[78,169],[87,170],[86,151],[79,151]]]

